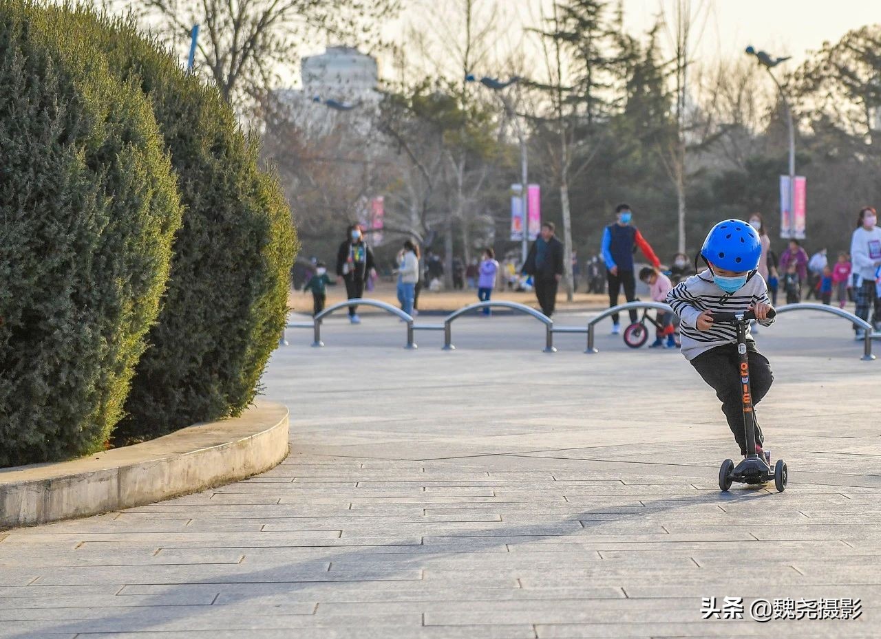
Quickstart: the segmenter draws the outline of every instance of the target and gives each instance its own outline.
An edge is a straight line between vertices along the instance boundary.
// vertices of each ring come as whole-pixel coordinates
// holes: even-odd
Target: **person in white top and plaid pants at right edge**
[[[875,273],[881,266],[881,229],[877,227],[877,213],[871,207],[860,210],[850,240],[850,262],[856,297],[855,314],[869,321],[869,309],[873,306],[871,323],[875,330],[881,330],[881,298],[875,287]],[[856,329],[856,339],[864,336],[862,329]]]

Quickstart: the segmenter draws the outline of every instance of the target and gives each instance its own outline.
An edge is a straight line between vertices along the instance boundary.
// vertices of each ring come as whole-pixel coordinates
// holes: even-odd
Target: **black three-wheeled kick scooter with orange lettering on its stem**
[[[774,309],[771,309],[768,312],[768,319],[773,318],[775,314]],[[771,480],[774,480],[777,492],[783,492],[786,489],[788,479],[785,461],[777,459],[772,472],[771,466],[768,466],[766,460],[756,452],[756,416],[752,410],[750,360],[746,351],[746,326],[749,321],[755,319],[756,315],[751,311],[713,313],[714,323],[726,322],[737,327],[737,353],[740,355],[740,386],[744,399],[744,431],[748,452],[746,459],[737,464],[737,467],[730,459],[725,459],[722,462],[722,467],[719,469],[719,488],[722,488],[723,492],[727,492],[731,488],[733,481],[744,484],[763,484]]]

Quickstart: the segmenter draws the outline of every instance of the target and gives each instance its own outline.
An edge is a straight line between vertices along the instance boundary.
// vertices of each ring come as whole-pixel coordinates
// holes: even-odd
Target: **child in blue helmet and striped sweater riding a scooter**
[[[737,328],[733,324],[714,324],[713,313],[751,310],[762,326],[774,323],[767,317],[772,307],[765,280],[756,276],[761,250],[759,233],[751,225],[733,219],[720,222],[707,234],[700,249],[707,269],[678,283],[667,294],[667,304],[681,320],[682,354],[722,400],[722,414],[742,455],[747,450],[743,400],[737,383],[740,376]],[[750,327],[746,328],[746,348],[755,406],[771,387],[774,373],[766,356],[756,349]],[[764,437],[758,421],[755,436],[755,452],[763,455]]]

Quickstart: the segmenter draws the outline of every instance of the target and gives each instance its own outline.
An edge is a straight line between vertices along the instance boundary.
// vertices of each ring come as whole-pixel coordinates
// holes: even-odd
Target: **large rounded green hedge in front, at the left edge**
[[[159,311],[181,204],[140,87],[23,0],[0,0],[0,87],[9,466],[105,447]]]

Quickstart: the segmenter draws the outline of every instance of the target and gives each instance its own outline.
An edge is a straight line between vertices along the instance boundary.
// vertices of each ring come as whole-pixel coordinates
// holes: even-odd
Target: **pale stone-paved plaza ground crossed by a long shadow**
[[[436,333],[404,350],[378,315],[331,318],[324,349],[289,330],[264,378],[291,408],[285,463],[0,533],[0,637],[881,635],[881,360],[832,317],[763,330],[759,415],[789,486],[726,495],[737,447],[714,394],[608,327],[594,356],[582,335],[543,354],[542,327],[510,315],[457,322],[455,352]],[[744,598],[746,619],[704,621],[709,597]],[[755,598],[862,615],[759,623]]]

